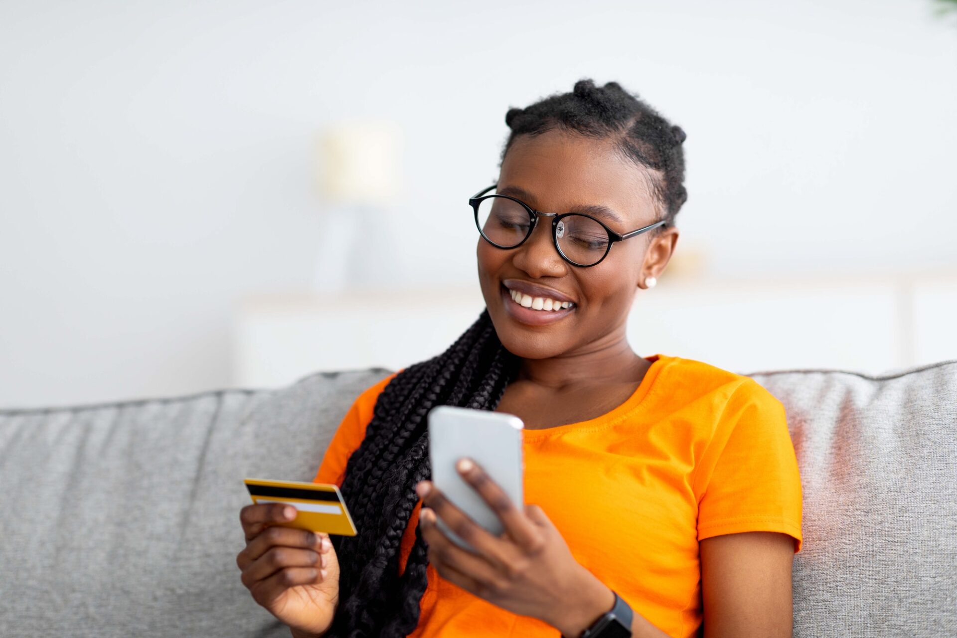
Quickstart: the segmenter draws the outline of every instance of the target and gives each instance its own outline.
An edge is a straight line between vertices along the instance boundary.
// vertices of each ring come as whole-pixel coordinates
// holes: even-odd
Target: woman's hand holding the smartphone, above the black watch
[[[471,460],[459,460],[456,469],[498,515],[505,531],[493,536],[432,481],[420,481],[415,486],[422,497],[419,527],[439,576],[503,609],[543,620],[566,636],[579,635],[612,608],[612,590],[575,561],[541,507],[525,505],[521,511]],[[435,525],[436,515],[478,553],[445,536]]]

